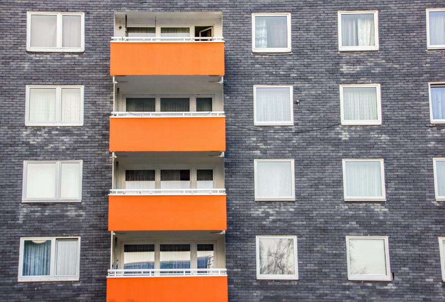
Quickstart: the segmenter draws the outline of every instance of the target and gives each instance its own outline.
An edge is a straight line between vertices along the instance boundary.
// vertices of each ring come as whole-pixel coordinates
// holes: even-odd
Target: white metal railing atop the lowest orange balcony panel
[[[226,268],[109,269],[108,277],[227,276]]]

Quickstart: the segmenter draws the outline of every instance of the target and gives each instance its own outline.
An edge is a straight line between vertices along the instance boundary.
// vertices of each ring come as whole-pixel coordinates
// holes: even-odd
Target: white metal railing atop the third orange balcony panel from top
[[[109,195],[226,195],[226,189],[111,189]]]

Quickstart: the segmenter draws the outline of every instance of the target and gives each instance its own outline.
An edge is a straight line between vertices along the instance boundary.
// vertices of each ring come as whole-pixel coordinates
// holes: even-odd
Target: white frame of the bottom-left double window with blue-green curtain
[[[50,255],[50,267],[48,276],[23,276],[23,256],[25,244],[27,240],[50,240],[51,241],[51,255]],[[77,266],[76,275],[72,276],[56,276],[56,242],[57,240],[77,240]],[[19,250],[19,273],[17,281],[19,282],[36,282],[36,281],[78,281],[80,274],[80,261],[81,261],[81,238],[78,236],[73,237],[21,237],[20,238],[20,250]]]

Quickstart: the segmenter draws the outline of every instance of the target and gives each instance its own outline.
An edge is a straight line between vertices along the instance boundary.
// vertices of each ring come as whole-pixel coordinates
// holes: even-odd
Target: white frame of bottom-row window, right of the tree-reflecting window
[[[352,274],[350,272],[350,261],[349,261],[349,239],[383,239],[385,242],[385,266],[386,274]],[[348,280],[365,280],[365,281],[391,281],[391,265],[389,258],[389,243],[388,236],[346,236],[346,258],[348,265]]]

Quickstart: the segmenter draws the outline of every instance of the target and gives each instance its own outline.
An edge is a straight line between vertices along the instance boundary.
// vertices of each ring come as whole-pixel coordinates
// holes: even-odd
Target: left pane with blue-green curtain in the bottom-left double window
[[[47,276],[51,257],[50,240],[25,240],[23,249],[23,276]]]

